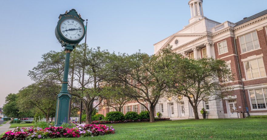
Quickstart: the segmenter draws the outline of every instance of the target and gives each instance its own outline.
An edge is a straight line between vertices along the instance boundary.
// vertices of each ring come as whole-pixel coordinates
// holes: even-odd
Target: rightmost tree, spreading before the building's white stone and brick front
[[[188,59],[176,53],[165,73],[169,96],[186,97],[193,107],[195,119],[201,101],[221,99],[232,90],[225,79],[232,80],[225,61],[213,58]],[[178,100],[179,100],[178,99]]]

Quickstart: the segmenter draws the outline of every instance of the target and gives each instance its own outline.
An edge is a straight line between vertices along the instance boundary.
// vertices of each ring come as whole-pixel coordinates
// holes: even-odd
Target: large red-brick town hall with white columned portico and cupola
[[[206,108],[207,118],[237,118],[238,111],[246,110],[250,115],[267,115],[267,10],[237,23],[219,23],[204,17],[202,2],[188,2],[191,12],[189,24],[155,43],[154,54],[170,44],[174,52],[184,57],[213,57],[226,61],[234,75],[234,81],[228,81],[234,87],[232,96],[200,103],[198,109]],[[122,112],[140,112],[143,108],[132,102],[125,105]],[[101,111],[103,109],[99,113]],[[186,98],[179,102],[162,99],[155,112],[161,112],[164,117],[194,117]]]

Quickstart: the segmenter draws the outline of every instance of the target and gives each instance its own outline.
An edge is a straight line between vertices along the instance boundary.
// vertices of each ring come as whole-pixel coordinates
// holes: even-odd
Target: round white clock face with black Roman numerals
[[[79,40],[83,37],[83,25],[73,18],[64,19],[60,24],[61,34],[68,40]]]

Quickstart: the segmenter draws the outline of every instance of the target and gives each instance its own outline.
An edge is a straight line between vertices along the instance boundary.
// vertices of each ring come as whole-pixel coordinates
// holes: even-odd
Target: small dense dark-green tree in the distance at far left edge
[[[3,105],[3,113],[8,117],[19,117],[19,107],[17,106],[17,94],[8,94],[5,97],[5,104]]]

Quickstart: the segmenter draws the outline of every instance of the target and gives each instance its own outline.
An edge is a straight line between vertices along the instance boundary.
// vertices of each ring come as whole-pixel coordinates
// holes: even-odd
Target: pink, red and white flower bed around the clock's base
[[[17,128],[12,131],[5,132],[0,138],[1,140],[12,140],[12,139],[43,139],[43,138],[79,138],[97,135],[114,134],[112,126],[106,125],[77,125],[74,128],[63,128],[63,127],[48,127],[45,129],[41,128]]]

